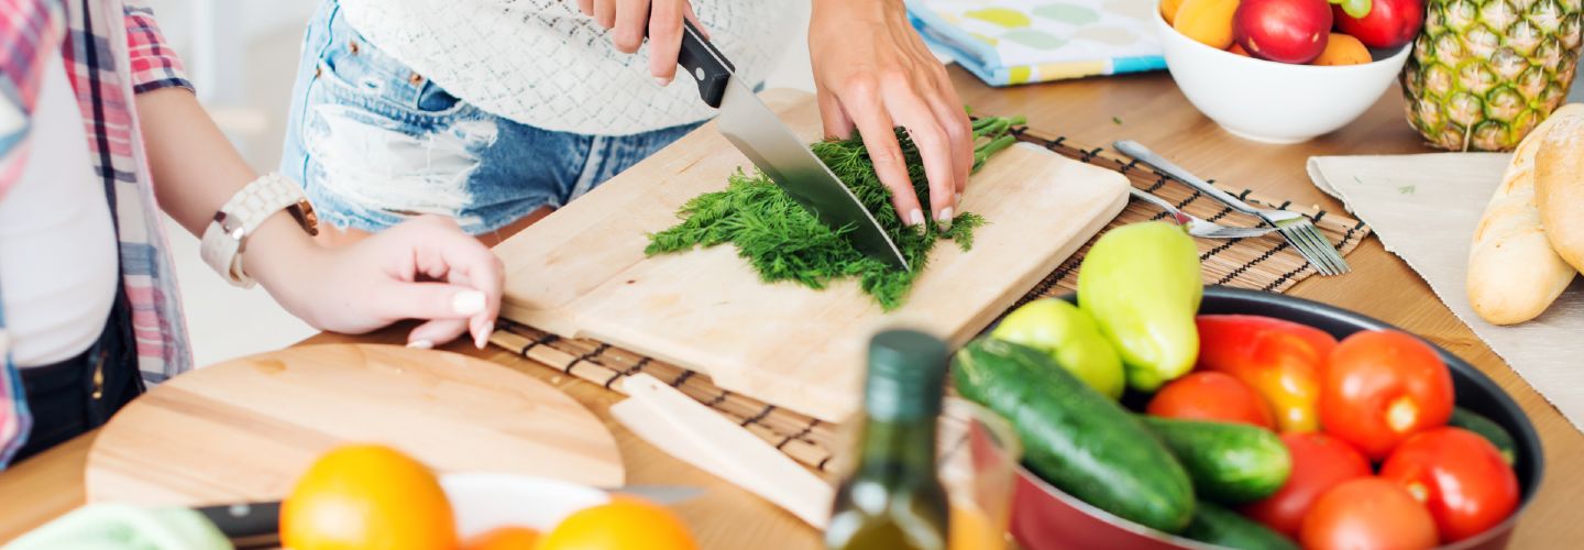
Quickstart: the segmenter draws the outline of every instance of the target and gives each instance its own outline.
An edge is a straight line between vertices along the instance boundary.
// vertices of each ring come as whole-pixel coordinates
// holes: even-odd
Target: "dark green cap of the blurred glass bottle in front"
[[[870,341],[863,409],[874,420],[917,420],[941,414],[949,352],[941,339],[889,330]]]

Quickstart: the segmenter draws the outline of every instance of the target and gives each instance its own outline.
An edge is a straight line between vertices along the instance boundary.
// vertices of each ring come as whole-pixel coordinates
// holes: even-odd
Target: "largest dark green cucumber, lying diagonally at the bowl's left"
[[[1120,404],[1050,353],[977,339],[952,361],[957,391],[1007,418],[1023,464],[1083,502],[1167,533],[1193,518],[1193,483],[1171,452]]]

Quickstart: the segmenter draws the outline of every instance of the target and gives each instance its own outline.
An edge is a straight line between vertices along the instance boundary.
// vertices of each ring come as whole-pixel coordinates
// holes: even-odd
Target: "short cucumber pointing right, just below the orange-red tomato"
[[[1139,415],[1193,479],[1193,490],[1221,504],[1270,496],[1293,472],[1293,456],[1275,433],[1224,422]]]

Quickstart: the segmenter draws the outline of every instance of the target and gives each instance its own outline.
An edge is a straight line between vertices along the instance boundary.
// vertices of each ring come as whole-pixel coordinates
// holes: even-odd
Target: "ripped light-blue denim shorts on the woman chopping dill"
[[[418,214],[489,233],[559,208],[697,124],[594,136],[518,124],[375,49],[325,0],[309,21],[280,173],[322,220],[379,231]]]

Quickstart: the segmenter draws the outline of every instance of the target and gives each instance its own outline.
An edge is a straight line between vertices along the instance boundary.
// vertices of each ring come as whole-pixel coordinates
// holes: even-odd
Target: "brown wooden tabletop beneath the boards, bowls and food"
[[[1402,98],[1392,89],[1369,113],[1346,128],[1297,146],[1264,146],[1232,138],[1201,116],[1164,73],[1118,76],[1077,82],[990,89],[952,68],[963,100],[977,113],[1025,114],[1028,124],[1064,135],[1085,146],[1107,146],[1128,138],[1148,144],[1188,170],[1218,181],[1250,187],[1267,197],[1321,204],[1342,204],[1310,184],[1304,162],[1312,155],[1427,152],[1402,116]],[[1472,206],[1476,208],[1476,206]],[[1562,548],[1584,540],[1584,521],[1573,502],[1584,501],[1584,477],[1570,476],[1570,464],[1584,460],[1584,436],[1517,377],[1402,260],[1367,239],[1348,255],[1353,273],[1310,277],[1291,293],[1372,315],[1419,333],[1468,360],[1500,384],[1524,407],[1540,431],[1551,469],[1535,501],[1524,512],[1514,548]],[[398,331],[348,338],[320,334],[307,342],[401,342]],[[550,380],[586,404],[616,433],[630,483],[687,483],[706,488],[697,499],[678,506],[708,548],[817,547],[819,534],[789,514],[670,458],[616,425],[610,404],[619,396],[592,384],[561,376],[539,363],[501,349],[448,347],[516,368]],[[0,540],[60,515],[82,502],[82,463],[90,445],[82,436],[44,455],[0,472]]]

